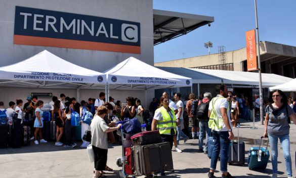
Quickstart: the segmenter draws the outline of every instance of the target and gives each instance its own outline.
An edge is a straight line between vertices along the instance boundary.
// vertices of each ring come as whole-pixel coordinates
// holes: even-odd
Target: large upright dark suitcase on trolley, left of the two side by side
[[[133,156],[137,175],[149,176],[162,170],[161,150],[157,145],[134,146]]]

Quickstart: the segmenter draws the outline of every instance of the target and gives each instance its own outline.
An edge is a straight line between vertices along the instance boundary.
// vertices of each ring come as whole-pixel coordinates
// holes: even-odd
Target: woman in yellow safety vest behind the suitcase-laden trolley
[[[166,96],[160,97],[161,107],[156,109],[151,129],[159,130],[162,142],[169,142],[171,149],[173,148],[173,137],[176,135],[177,119],[172,108],[168,107],[168,98]]]

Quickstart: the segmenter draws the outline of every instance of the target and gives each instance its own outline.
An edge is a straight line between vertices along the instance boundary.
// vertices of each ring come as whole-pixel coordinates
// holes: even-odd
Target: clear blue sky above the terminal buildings
[[[153,0],[153,9],[214,17],[210,27],[154,46],[154,62],[207,55],[204,42],[226,51],[245,47],[245,32],[256,28],[253,0]],[[257,0],[259,39],[296,46],[296,0]]]

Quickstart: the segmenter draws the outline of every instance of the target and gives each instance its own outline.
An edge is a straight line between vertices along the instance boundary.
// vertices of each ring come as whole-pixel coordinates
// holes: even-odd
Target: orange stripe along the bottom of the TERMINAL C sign
[[[141,54],[141,47],[104,42],[14,35],[14,44]]]

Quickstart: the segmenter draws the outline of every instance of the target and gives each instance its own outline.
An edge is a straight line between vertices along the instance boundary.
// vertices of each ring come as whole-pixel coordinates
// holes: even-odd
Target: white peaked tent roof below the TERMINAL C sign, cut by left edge
[[[0,84],[16,86],[15,82],[35,87],[67,83],[65,87],[71,87],[73,84],[105,84],[106,75],[72,64],[45,50],[19,63],[0,67]]]

